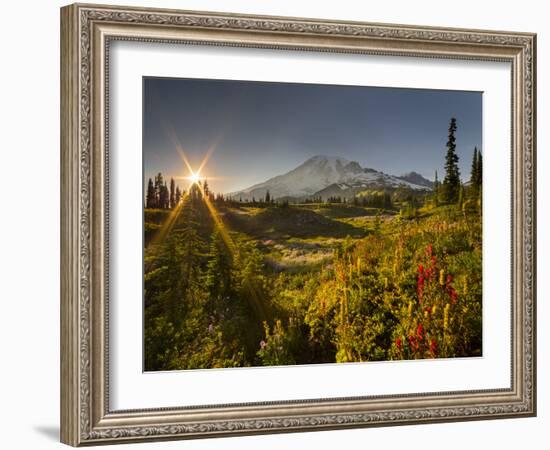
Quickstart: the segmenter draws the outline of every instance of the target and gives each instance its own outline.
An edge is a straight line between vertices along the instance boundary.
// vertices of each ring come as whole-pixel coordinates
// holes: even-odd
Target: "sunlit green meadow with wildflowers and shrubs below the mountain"
[[[144,210],[147,371],[482,355],[479,201]]]

